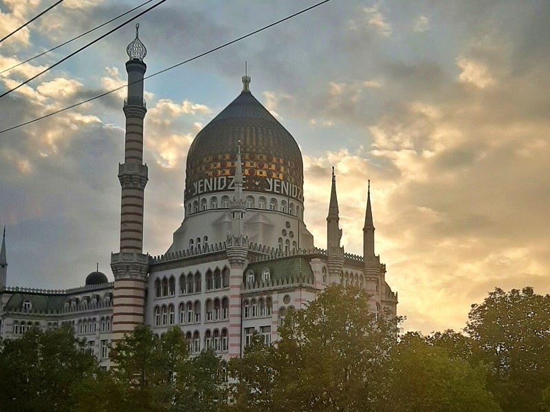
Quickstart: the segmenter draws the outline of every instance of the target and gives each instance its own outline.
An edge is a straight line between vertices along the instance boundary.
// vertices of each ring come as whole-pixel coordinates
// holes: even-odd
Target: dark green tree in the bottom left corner
[[[0,344],[0,405],[5,411],[72,411],[74,393],[93,380],[96,358],[69,325],[32,328]]]

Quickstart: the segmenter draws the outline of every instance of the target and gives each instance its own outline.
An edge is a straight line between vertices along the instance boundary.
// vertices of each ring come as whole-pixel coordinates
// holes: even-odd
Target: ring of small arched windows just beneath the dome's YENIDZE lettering
[[[229,196],[222,196],[221,200],[218,203],[217,196],[212,196],[210,202],[206,198],[202,198],[200,201],[195,200],[192,203],[187,204],[187,215],[198,213],[199,211],[212,210],[212,209],[229,209],[230,198]],[[281,201],[279,203],[276,198],[270,198],[269,204],[267,203],[267,198],[260,196],[256,203],[254,196],[246,196],[245,204],[247,209],[264,209],[264,210],[273,210],[281,211],[285,214],[292,216],[297,216],[298,218],[302,216],[302,209],[299,205],[295,205],[293,202]]]

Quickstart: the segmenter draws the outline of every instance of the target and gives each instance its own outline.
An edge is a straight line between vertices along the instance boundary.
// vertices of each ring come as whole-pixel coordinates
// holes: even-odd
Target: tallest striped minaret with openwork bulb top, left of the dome
[[[113,294],[113,341],[121,339],[144,321],[144,286],[148,273],[148,255],[143,247],[143,197],[147,183],[147,165],[143,164],[143,121],[147,112],[143,99],[143,78],[147,66],[143,59],[147,50],[139,38],[126,47],[129,60],[128,97],[124,99],[126,137],[124,163],[118,165],[122,186],[120,211],[120,252],[111,255],[115,276]]]

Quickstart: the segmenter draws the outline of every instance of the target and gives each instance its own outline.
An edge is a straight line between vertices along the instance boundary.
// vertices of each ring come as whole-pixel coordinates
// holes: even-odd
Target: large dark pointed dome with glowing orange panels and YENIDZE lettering
[[[193,140],[184,198],[231,190],[241,145],[245,192],[276,193],[303,202],[302,153],[294,137],[248,90],[214,117]]]

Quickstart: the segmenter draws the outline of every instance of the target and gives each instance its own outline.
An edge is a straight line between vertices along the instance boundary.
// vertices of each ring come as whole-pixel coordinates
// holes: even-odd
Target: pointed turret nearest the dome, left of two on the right
[[[331,200],[327,216],[327,256],[331,282],[339,282],[344,267],[344,247],[340,246],[342,229],[340,229],[338,198],[336,197],[336,176],[332,168]]]

